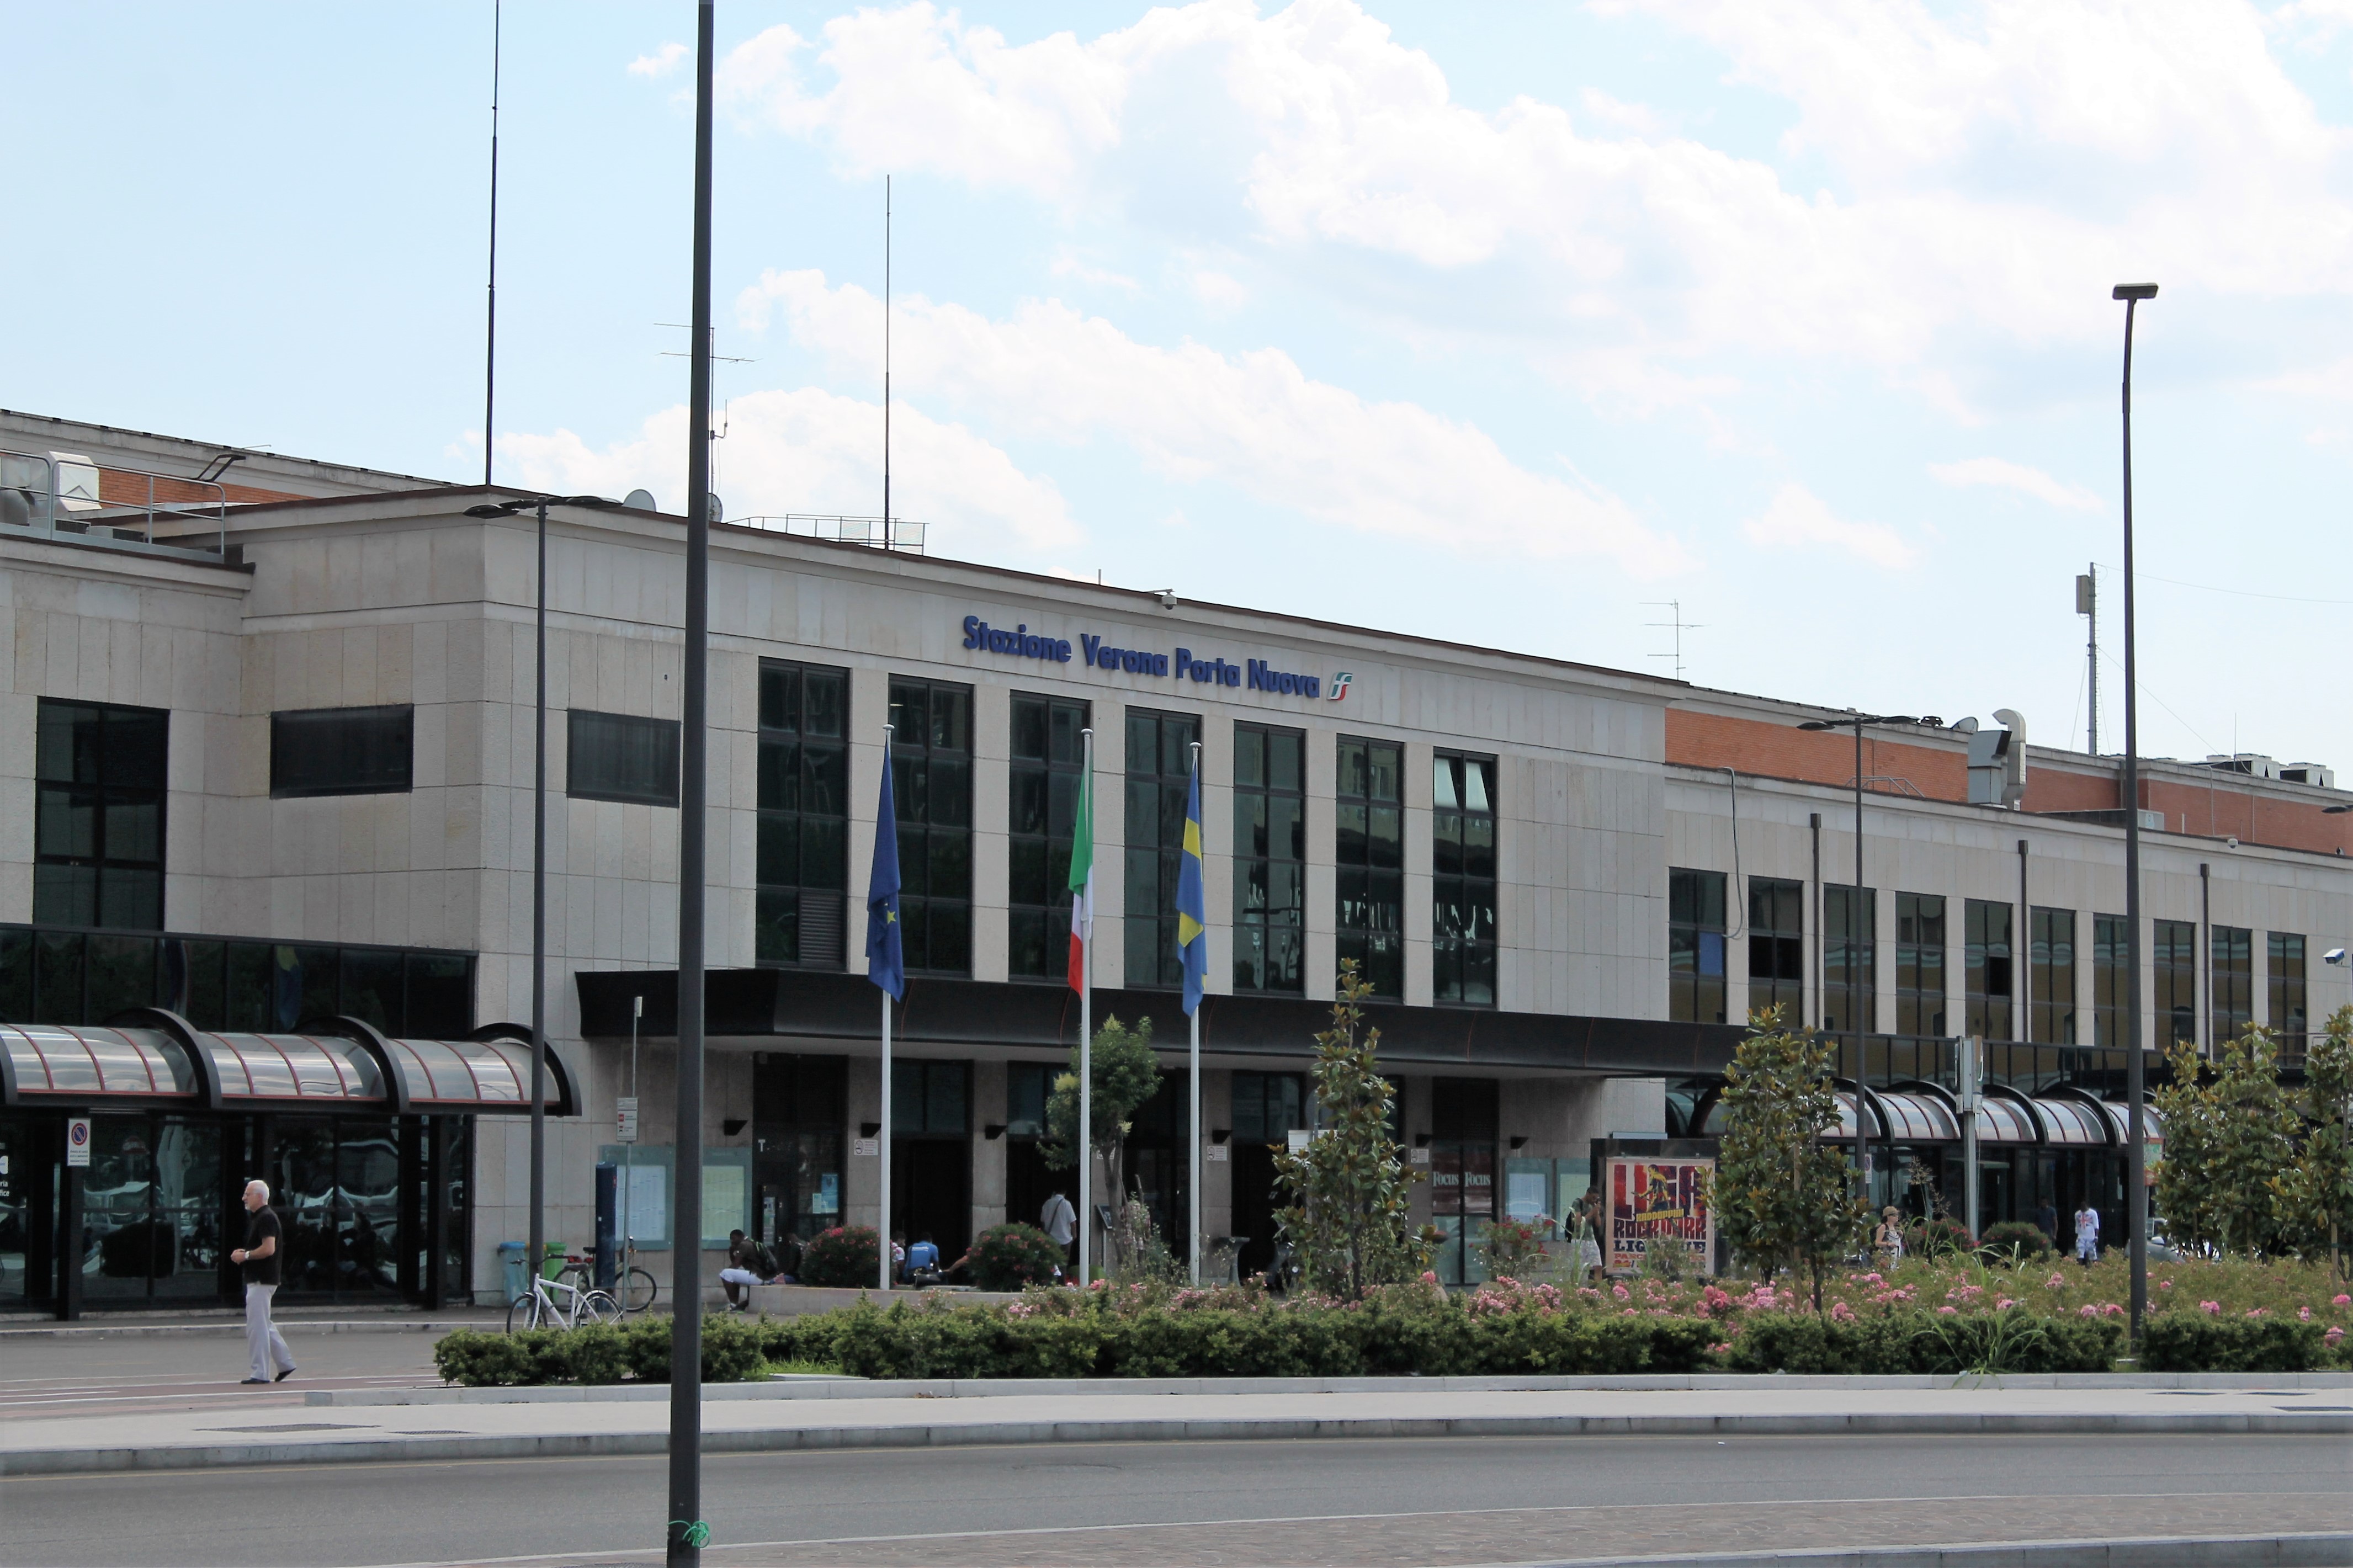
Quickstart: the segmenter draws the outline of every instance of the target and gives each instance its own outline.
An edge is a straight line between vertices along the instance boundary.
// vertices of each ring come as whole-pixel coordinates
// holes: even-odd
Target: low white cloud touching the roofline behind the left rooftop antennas
[[[729,518],[788,511],[880,516],[882,407],[819,388],[729,398],[727,440],[715,443],[713,490]],[[652,490],[685,511],[687,410],[645,421],[635,440],[595,450],[572,431],[499,436],[501,478],[529,490],[626,494]],[[929,525],[929,551],[1005,560],[1085,539],[1054,480],[1024,473],[960,424],[892,410],[892,513]]]

